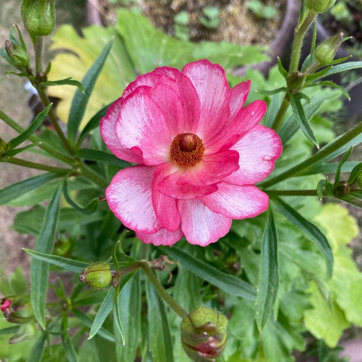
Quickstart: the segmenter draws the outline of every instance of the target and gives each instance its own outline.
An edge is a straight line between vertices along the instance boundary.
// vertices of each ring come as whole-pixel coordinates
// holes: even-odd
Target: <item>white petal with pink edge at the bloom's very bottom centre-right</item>
[[[230,230],[232,220],[212,212],[200,200],[178,200],[181,229],[190,244],[215,243]]]

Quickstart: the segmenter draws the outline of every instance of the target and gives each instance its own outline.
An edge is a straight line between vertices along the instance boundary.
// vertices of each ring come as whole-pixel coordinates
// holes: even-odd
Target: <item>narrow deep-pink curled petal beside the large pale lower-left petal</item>
[[[169,231],[176,231],[180,226],[180,215],[177,210],[177,201],[173,197],[161,194],[157,190],[159,182],[173,172],[172,164],[158,165],[152,180],[152,203],[157,217],[163,227]]]

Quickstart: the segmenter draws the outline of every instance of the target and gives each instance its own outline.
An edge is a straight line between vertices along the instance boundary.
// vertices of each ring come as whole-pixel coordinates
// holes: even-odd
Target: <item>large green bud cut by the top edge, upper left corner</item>
[[[21,17],[30,35],[49,35],[55,25],[54,0],[22,0]]]

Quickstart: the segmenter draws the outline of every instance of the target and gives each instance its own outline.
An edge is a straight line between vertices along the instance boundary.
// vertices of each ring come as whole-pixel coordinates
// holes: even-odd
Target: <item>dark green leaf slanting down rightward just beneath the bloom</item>
[[[229,294],[255,301],[256,290],[243,280],[233,275],[223,273],[181,249],[175,247],[166,248],[161,245],[159,248],[163,253],[173,257],[175,260],[180,260],[181,265],[210,284],[215,285]]]

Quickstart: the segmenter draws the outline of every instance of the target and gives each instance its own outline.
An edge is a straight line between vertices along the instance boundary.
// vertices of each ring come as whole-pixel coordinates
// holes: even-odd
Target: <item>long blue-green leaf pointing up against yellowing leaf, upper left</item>
[[[69,111],[68,117],[68,140],[71,144],[75,143],[77,131],[79,129],[80,122],[84,116],[85,108],[87,107],[90,94],[94,88],[94,84],[96,84],[96,80],[98,75],[100,74],[106,58],[111,50],[113,45],[113,40],[109,41],[107,45],[102,50],[101,54],[98,56],[96,61],[93,63],[92,67],[89,68],[86,75],[82,80],[82,84],[84,86],[84,92],[82,93],[79,89],[76,90],[72,105]]]

